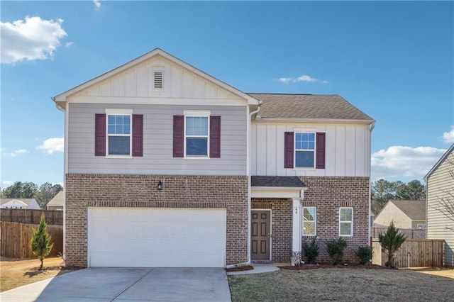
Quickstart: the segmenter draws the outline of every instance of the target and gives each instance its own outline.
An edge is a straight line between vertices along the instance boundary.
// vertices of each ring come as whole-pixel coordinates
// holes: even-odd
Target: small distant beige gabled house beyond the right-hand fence
[[[426,202],[389,200],[374,220],[375,226],[388,227],[394,221],[396,228],[426,228]]]

